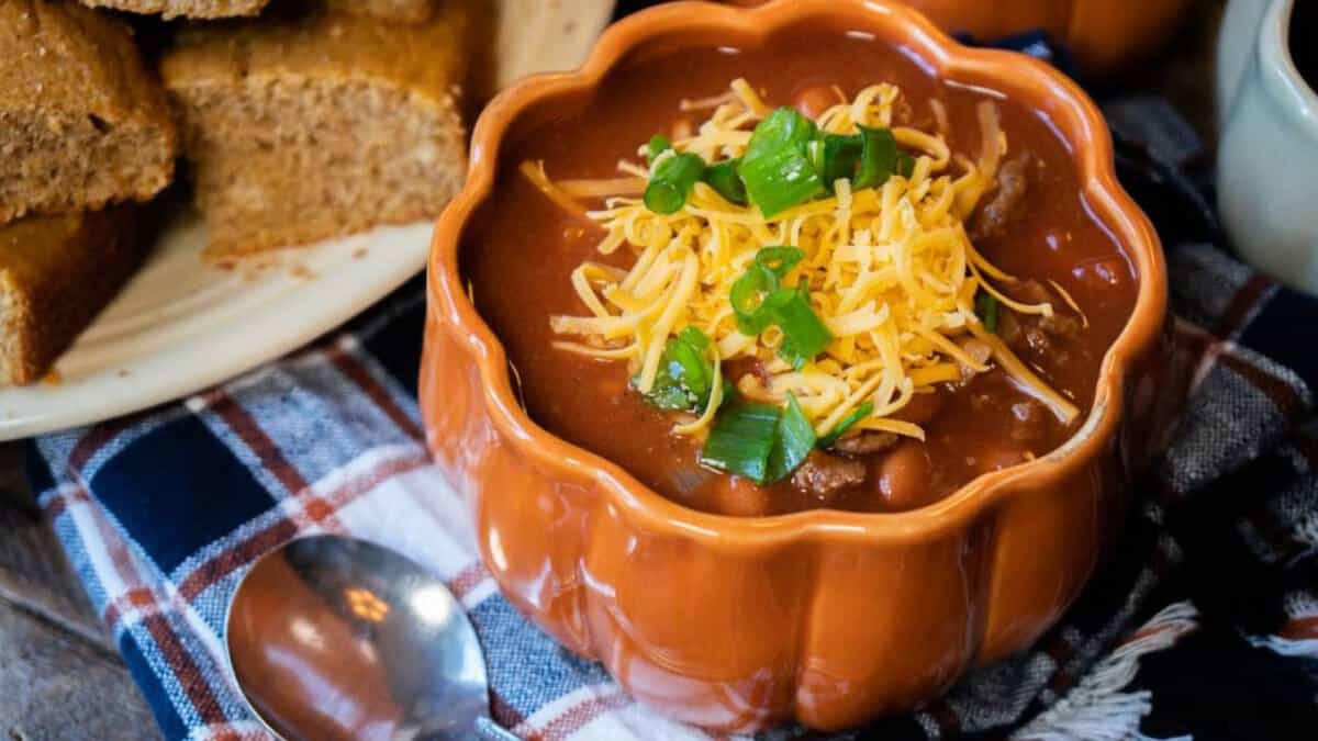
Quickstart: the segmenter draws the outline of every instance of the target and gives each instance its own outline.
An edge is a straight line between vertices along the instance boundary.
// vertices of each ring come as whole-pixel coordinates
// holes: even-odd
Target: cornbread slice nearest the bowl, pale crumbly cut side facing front
[[[465,3],[420,25],[337,11],[191,29],[161,61],[208,256],[435,216],[465,170]]]

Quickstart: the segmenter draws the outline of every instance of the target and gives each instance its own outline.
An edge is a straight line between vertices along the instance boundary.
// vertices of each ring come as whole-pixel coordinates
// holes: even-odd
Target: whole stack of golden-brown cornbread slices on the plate
[[[175,173],[220,261],[434,216],[461,182],[473,0],[83,1],[0,0],[0,384],[115,297]]]

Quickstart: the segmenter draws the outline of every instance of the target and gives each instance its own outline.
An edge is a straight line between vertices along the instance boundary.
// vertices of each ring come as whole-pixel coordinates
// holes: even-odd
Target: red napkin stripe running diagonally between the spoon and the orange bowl
[[[368,473],[349,479],[343,487],[330,492],[324,497],[308,494],[306,497],[307,502],[303,502],[302,510],[307,512],[307,505],[311,502],[328,505],[328,512],[323,512],[320,506],[311,508],[315,513],[320,514],[320,519],[323,521],[332,517],[333,513],[339,512],[339,509],[344,505],[369,492],[386,479],[420,468],[428,463],[430,459],[423,454],[386,460],[370,469]],[[311,513],[308,513],[307,517],[311,517]],[[183,579],[182,583],[179,583],[179,595],[188,601],[196,599],[198,595],[204,592],[220,579],[232,574],[236,568],[252,563],[268,551],[293,539],[298,534],[299,521],[306,523],[302,516],[286,516],[278,522],[268,526],[265,530],[252,535],[246,541],[243,541],[220,552],[211,560],[199,566],[192,574]]]

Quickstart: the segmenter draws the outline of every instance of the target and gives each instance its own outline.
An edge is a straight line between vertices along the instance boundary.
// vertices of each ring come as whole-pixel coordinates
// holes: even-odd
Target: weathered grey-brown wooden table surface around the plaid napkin
[[[1165,95],[1213,141],[1213,47],[1224,0],[1128,87]],[[159,732],[119,650],[41,518],[22,446],[0,443],[0,741],[153,740]]]

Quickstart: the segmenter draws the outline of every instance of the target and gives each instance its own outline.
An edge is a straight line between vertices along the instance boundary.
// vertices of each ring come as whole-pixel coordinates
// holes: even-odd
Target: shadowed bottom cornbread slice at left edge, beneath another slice
[[[40,380],[145,253],[137,207],[0,227],[0,385]]]

